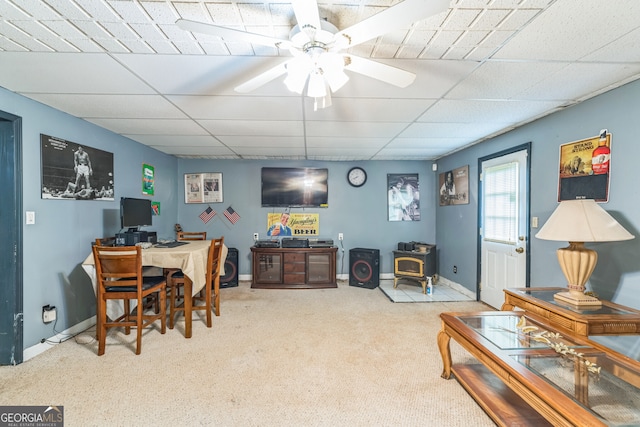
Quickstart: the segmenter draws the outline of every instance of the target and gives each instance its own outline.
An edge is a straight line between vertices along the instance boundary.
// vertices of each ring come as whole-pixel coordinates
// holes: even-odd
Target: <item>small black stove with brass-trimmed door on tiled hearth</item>
[[[422,250],[393,251],[393,287],[400,279],[410,279],[422,285],[422,293],[427,293],[427,282],[434,281],[436,275],[436,246],[420,245]]]

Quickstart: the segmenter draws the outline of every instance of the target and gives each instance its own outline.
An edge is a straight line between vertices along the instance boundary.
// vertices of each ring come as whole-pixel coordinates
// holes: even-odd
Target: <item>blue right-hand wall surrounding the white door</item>
[[[471,193],[468,205],[436,208],[441,276],[475,292],[478,159],[526,142],[531,142],[531,216],[538,217],[542,226],[557,206],[560,145],[593,137],[600,129],[608,129],[612,133],[611,180],[609,202],[602,207],[631,234],[640,236],[637,111],[640,111],[640,81],[440,159],[438,169],[441,171],[469,165]],[[537,231],[530,230],[531,286],[565,286],[556,249],[566,244],[537,239],[534,237]],[[587,246],[599,256],[588,288],[604,299],[640,309],[640,237]],[[453,265],[458,267],[455,275]]]

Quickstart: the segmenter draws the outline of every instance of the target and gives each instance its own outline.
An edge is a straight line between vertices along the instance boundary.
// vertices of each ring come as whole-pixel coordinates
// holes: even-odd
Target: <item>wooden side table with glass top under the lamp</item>
[[[505,289],[501,309],[510,311],[515,307],[521,308],[576,335],[640,334],[640,310],[604,300],[602,306],[578,308],[553,298],[555,293],[561,291],[566,291],[566,288]]]

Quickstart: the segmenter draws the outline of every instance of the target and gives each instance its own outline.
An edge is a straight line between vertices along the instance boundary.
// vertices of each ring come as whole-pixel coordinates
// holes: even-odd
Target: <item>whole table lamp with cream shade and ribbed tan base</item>
[[[598,261],[596,251],[585,248],[584,242],[614,242],[635,236],[595,200],[585,199],[560,202],[536,237],[569,242],[568,247],[558,249],[558,262],[569,290],[555,294],[554,298],[576,306],[599,306],[600,300],[584,294],[585,284]]]

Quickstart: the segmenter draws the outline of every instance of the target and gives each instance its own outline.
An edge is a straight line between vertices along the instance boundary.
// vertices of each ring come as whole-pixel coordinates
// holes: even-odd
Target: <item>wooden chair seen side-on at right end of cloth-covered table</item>
[[[214,239],[209,246],[209,254],[207,256],[207,281],[200,292],[193,297],[192,309],[205,310],[207,318],[207,327],[212,324],[211,312],[216,316],[220,316],[220,268],[223,264],[222,248],[224,246],[224,236],[220,239]],[[184,288],[184,273],[179,270],[169,273],[167,283],[178,293]],[[184,290],[183,290],[184,292]],[[182,302],[170,299],[169,302],[169,329],[173,329],[175,315],[179,312],[184,313],[184,299]]]

